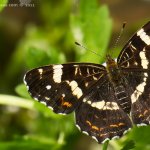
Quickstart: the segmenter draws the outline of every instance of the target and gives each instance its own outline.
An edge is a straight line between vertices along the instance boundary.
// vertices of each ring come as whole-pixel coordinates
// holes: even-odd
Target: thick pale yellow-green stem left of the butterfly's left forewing
[[[0,94],[0,104],[34,109],[34,101],[12,95]]]

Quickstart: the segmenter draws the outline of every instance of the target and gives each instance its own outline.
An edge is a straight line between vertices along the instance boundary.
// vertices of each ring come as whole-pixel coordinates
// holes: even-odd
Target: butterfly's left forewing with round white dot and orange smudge
[[[87,89],[105,72],[105,67],[90,63],[49,65],[29,71],[24,78],[34,99],[56,113],[72,112]]]

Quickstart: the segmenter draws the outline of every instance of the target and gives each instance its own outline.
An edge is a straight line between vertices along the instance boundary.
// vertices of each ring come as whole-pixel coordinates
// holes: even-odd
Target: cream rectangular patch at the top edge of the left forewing
[[[56,83],[60,83],[61,82],[61,76],[62,76],[62,65],[54,65],[53,66],[53,79]]]

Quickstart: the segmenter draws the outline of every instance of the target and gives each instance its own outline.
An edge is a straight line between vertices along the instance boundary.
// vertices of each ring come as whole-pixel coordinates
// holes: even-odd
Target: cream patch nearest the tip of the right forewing
[[[150,37],[146,34],[144,29],[141,29],[137,32],[137,36],[141,38],[143,42],[145,42],[147,45],[150,45]]]

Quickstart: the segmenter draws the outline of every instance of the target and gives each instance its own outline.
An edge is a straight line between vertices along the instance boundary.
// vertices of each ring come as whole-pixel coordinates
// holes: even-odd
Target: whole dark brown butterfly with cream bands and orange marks
[[[150,124],[150,21],[117,61],[48,65],[24,76],[30,95],[57,114],[75,112],[76,126],[98,143]]]

